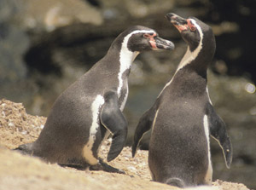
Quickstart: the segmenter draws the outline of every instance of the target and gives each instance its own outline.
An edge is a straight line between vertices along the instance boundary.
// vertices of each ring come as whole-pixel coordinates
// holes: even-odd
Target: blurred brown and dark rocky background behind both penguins
[[[231,169],[212,141],[213,179],[256,188],[256,1],[253,0],[0,0],[0,98],[47,116],[56,97],[100,60],[128,26],[154,28],[172,52],[139,55],[125,107],[129,138],[138,119],[172,78],[186,45],[165,19],[174,12],[212,26],[217,50],[209,69],[212,103],[227,124],[234,148]],[[149,134],[149,133],[148,133]],[[145,135],[142,148],[147,148]]]

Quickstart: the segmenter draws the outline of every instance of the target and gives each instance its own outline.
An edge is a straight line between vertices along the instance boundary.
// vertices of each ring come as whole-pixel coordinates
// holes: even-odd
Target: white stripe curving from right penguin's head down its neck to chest
[[[174,73],[172,79],[175,77],[176,73],[183,68],[183,66],[188,65],[189,63],[191,63],[192,60],[195,60],[195,58],[197,57],[197,55],[199,55],[201,49],[202,49],[202,39],[203,39],[203,32],[201,31],[201,27],[199,25],[196,24],[196,21],[193,19],[190,19],[192,24],[197,28],[199,35],[200,35],[200,42],[198,47],[191,52],[189,47],[187,49],[186,54],[183,56],[183,59],[180,61],[180,63],[177,66],[177,70]],[[172,79],[169,81],[169,83],[166,83],[166,86],[164,87],[164,89],[166,89],[167,86],[169,86],[172,83]],[[160,97],[160,95],[162,94],[162,92],[164,91],[164,89],[162,89],[162,91],[160,92],[160,94],[158,95],[158,97]]]

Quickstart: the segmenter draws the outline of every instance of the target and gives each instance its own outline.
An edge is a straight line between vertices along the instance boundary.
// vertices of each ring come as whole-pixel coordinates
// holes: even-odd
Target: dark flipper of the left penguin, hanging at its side
[[[113,135],[108,162],[116,158],[125,146],[127,136],[127,122],[119,109],[118,95],[115,90],[109,90],[104,94],[105,103],[102,107],[101,122]]]

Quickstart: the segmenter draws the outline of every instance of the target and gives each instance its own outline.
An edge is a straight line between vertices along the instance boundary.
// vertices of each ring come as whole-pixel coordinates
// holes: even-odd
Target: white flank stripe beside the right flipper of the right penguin
[[[209,139],[209,124],[207,115],[204,116],[204,130],[207,136],[207,147],[208,147],[208,169],[207,174],[205,176],[205,181],[208,184],[212,184],[212,161],[211,161],[211,152],[210,152],[210,139]]]

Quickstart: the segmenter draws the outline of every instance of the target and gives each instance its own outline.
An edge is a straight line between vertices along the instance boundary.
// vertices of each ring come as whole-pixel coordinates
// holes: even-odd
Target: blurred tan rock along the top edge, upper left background
[[[18,14],[22,18],[22,25],[26,28],[41,28],[48,32],[61,26],[75,22],[102,24],[102,15],[99,9],[83,0],[52,0],[35,2],[22,0],[22,11]]]

